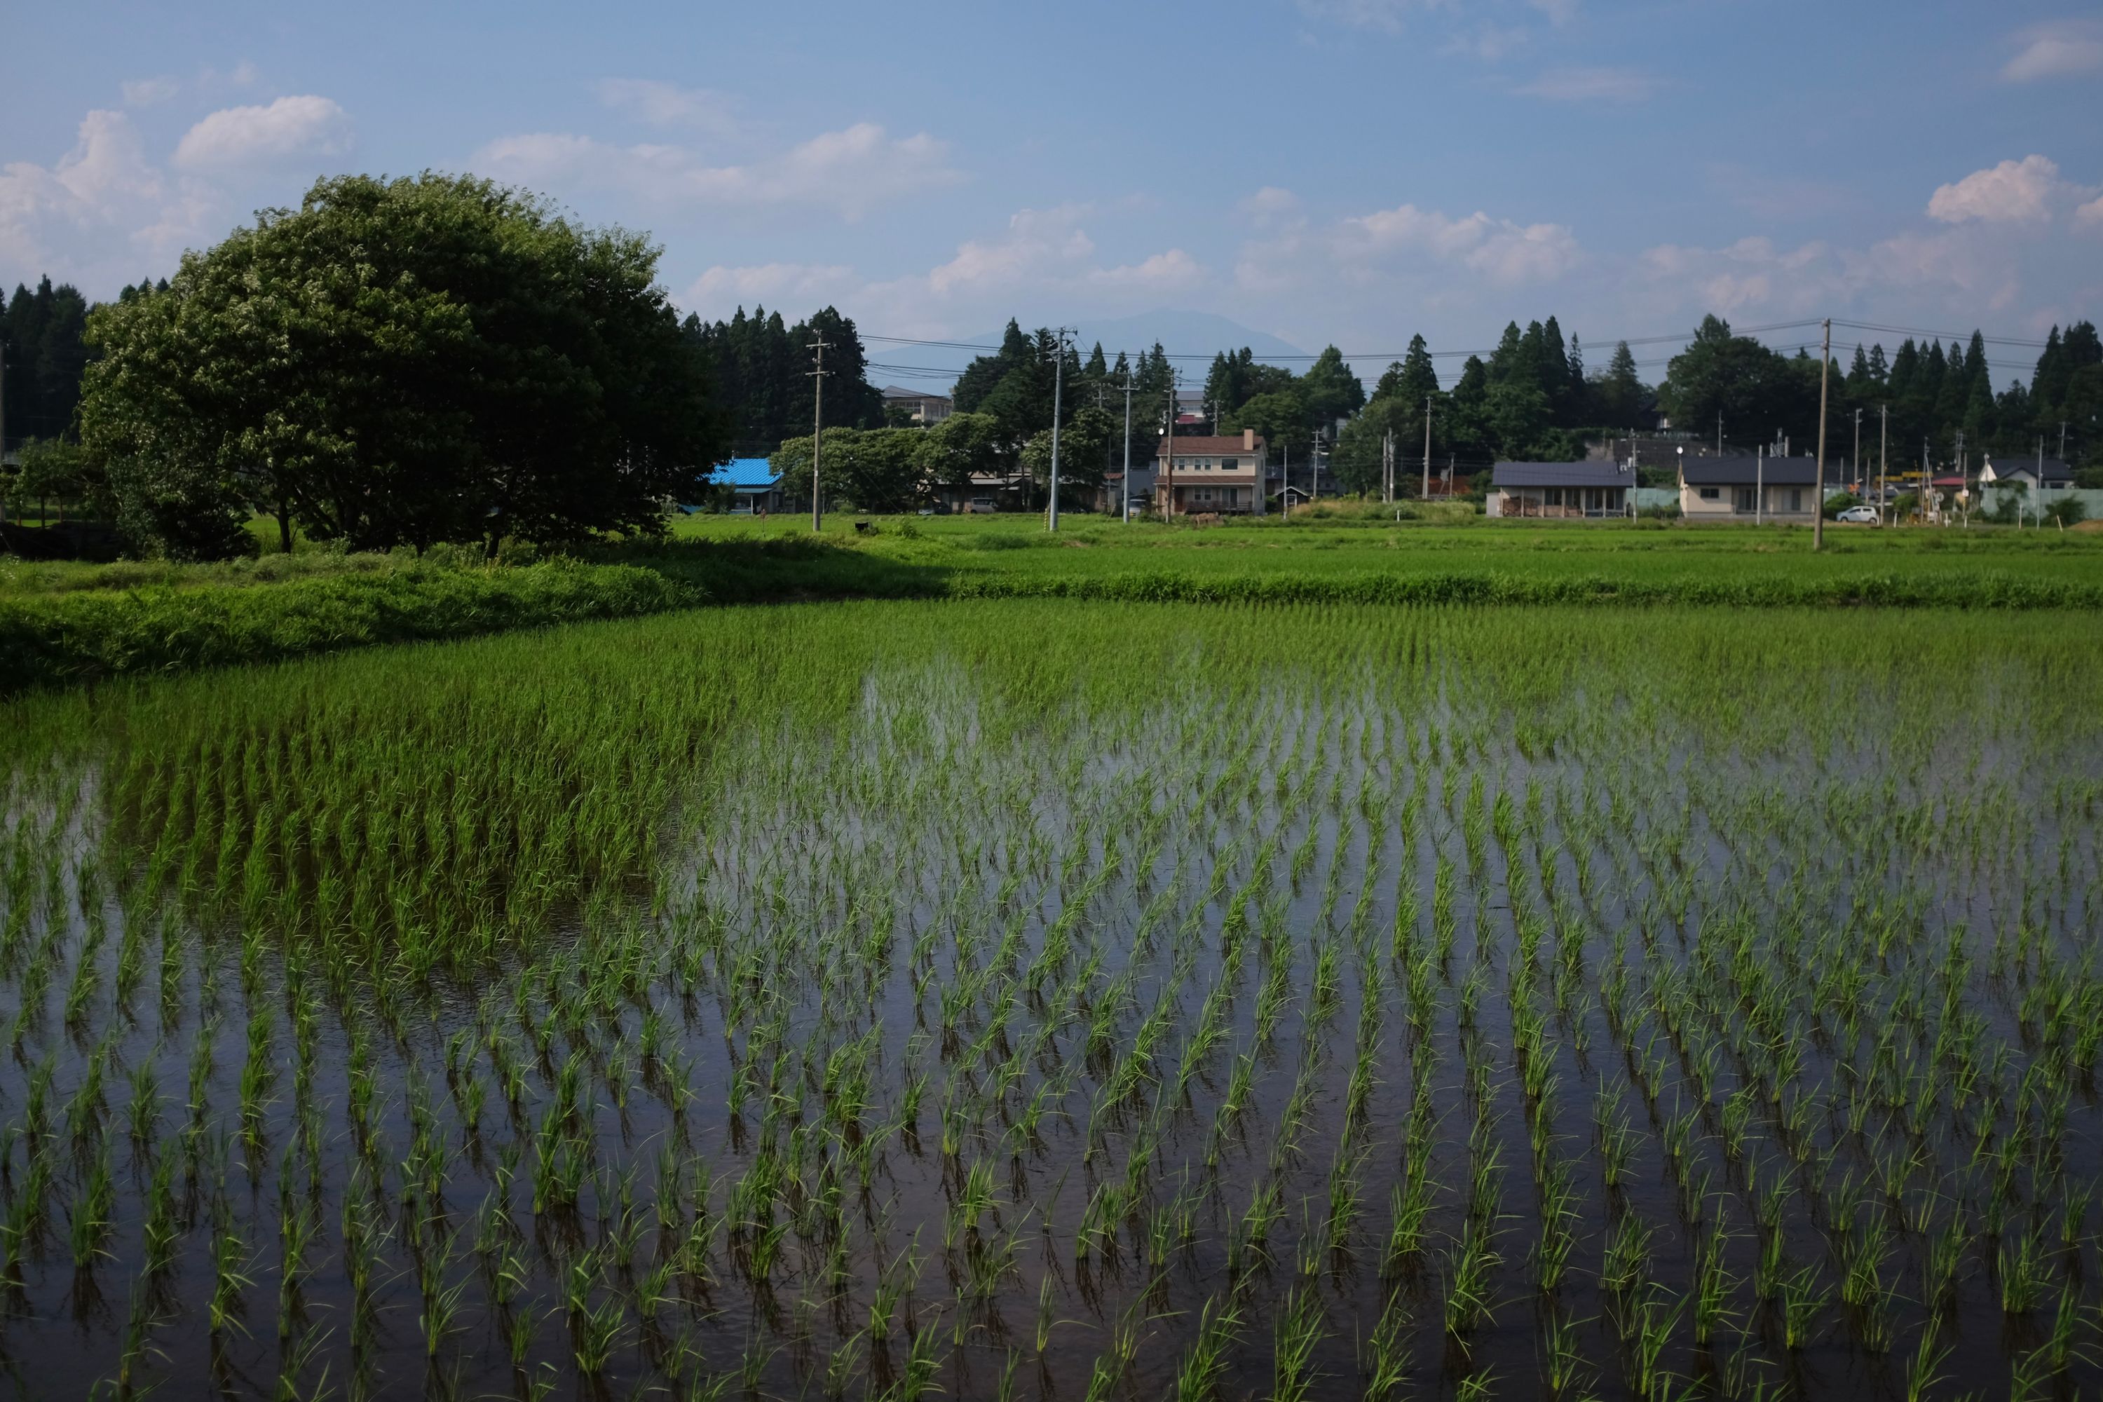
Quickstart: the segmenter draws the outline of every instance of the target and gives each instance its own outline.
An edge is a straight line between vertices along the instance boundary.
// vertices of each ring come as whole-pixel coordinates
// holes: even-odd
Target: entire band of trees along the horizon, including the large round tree
[[[0,496],[57,496],[116,521],[139,551],[208,557],[252,547],[265,517],[355,549],[507,540],[562,544],[665,528],[702,500],[715,465],[772,456],[808,481],[826,341],[824,490],[902,511],[942,486],[1005,475],[1043,500],[1058,395],[1062,486],[1085,504],[1129,450],[1148,462],[1176,429],[1180,383],[1161,345],[1085,355],[1009,322],[957,378],[932,427],[885,422],[856,324],[835,307],[683,319],[656,282],[648,235],[587,229],[545,200],[473,177],[326,179],[299,208],[263,210],[175,277],[90,307],[46,277],[0,298],[6,439]],[[2006,353],[2006,351],[2002,351]],[[1958,435],[1977,454],[2048,454],[2103,486],[2103,343],[2053,328],[2027,385],[1996,391],[1979,332],[1960,345],[1857,347],[1830,366],[1828,448],[1851,450],[1855,410],[1893,456],[1935,465]],[[1380,486],[1382,444],[1466,475],[1497,458],[1567,460],[1600,435],[1674,429],[1731,444],[1817,437],[1821,364],[1703,317],[1647,385],[1626,343],[1588,368],[1556,317],[1508,324],[1449,383],[1424,336],[1367,391],[1335,347],[1304,370],[1247,347],[1213,355],[1197,431],[1255,429],[1274,456],[1329,452],[1344,490]],[[1125,387],[1131,387],[1127,433]],[[1867,425],[1865,425],[1867,429]],[[1863,456],[1872,441],[1863,433]],[[1836,448],[1849,444],[1846,450]],[[1405,473],[1407,477],[1407,473]]]

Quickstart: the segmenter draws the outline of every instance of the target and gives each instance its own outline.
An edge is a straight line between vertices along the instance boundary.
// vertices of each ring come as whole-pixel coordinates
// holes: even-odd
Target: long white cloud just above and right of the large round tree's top
[[[818,206],[848,219],[961,179],[948,166],[946,143],[925,132],[890,137],[871,122],[734,166],[711,166],[677,145],[616,147],[555,132],[492,141],[475,162],[528,185],[608,187],[652,204]]]

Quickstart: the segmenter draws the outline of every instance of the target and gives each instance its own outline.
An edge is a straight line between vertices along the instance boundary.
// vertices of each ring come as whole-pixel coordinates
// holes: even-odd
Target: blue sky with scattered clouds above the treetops
[[[1703,311],[2103,313],[2095,4],[193,0],[8,32],[8,286],[109,296],[315,174],[429,166],[650,229],[686,309],[892,336],[1180,309],[1377,374],[1548,313],[1594,364]]]

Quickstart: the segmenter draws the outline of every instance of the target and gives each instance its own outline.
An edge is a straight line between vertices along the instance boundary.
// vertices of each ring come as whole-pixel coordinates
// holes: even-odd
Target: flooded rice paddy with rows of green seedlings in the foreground
[[[2103,1385],[2103,620],[858,603],[0,708],[23,1396]]]

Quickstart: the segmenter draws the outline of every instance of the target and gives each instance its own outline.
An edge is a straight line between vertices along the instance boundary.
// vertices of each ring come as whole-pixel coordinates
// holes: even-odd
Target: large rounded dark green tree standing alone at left
[[[728,448],[658,250],[473,177],[320,181],[99,307],[82,437],[175,555],[654,532]]]

